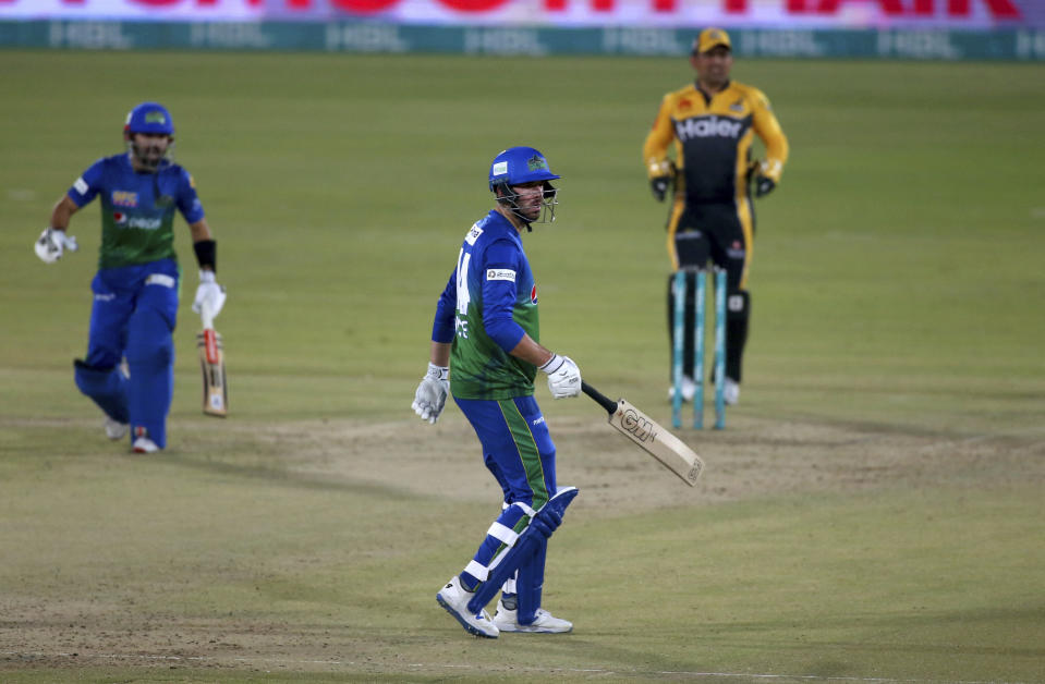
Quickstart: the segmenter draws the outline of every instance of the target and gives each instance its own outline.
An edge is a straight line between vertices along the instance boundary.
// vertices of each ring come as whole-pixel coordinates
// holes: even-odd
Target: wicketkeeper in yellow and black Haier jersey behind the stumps
[[[664,96],[642,156],[654,197],[664,201],[673,188],[668,219],[672,270],[705,268],[710,260],[727,271],[725,390],[726,402],[736,404],[751,317],[748,268],[755,212],[750,185],[753,180],[755,197],[776,187],[788,159],[788,141],[766,96],[757,88],[730,80],[733,57],[725,30],[702,30],[693,41],[690,63],[696,71],[696,82]],[[765,145],[765,159],[752,159],[755,135]],[[670,150],[671,147],[675,149]],[[694,290],[691,282],[688,300]],[[669,279],[669,335],[673,307]],[[690,401],[694,382],[701,379],[693,377],[691,301],[685,310],[682,392]]]

